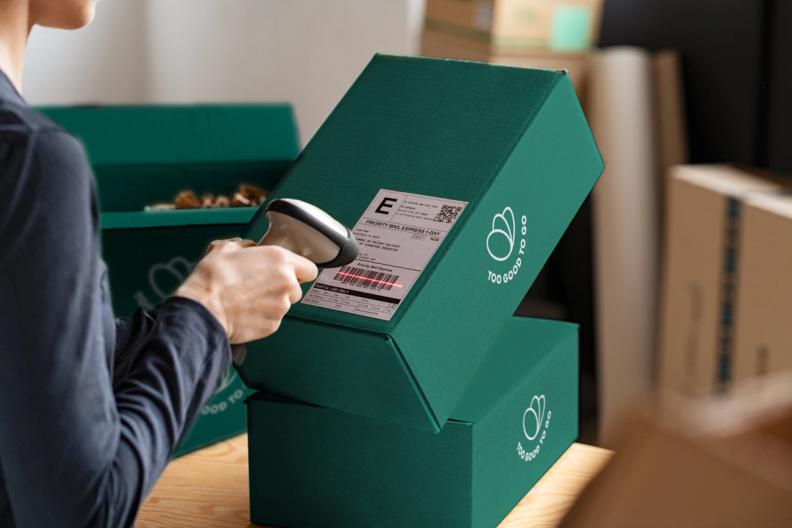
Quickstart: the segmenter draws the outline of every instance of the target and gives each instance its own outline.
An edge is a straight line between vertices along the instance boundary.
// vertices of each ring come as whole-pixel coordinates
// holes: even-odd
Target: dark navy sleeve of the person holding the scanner
[[[202,305],[170,298],[132,322],[134,339],[120,336],[135,353],[114,377],[81,145],[4,132],[0,178],[0,483],[13,520],[130,526],[227,368],[225,332]]]

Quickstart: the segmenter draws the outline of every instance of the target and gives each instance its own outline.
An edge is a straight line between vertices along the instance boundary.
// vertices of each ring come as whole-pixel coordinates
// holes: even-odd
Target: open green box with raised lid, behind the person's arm
[[[288,105],[105,106],[42,109],[86,146],[97,180],[102,253],[116,316],[152,309],[189,274],[209,242],[239,236],[256,208],[150,211],[182,190],[272,189],[298,153]],[[230,369],[176,454],[245,430],[248,391]]]

